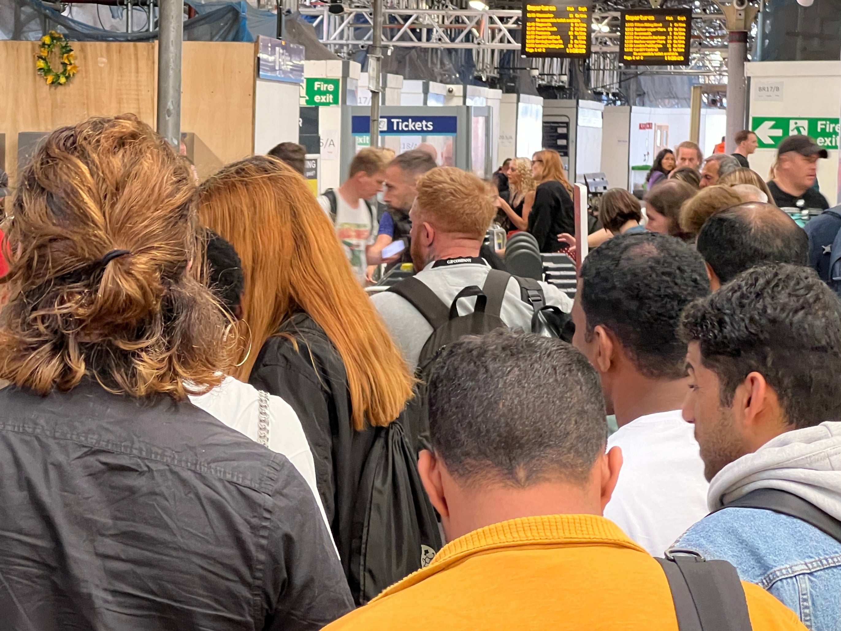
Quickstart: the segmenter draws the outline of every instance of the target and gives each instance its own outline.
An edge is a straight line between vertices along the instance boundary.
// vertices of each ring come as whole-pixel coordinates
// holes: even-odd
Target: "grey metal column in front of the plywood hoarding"
[[[181,146],[181,43],[184,0],[158,5],[157,132],[173,147]]]

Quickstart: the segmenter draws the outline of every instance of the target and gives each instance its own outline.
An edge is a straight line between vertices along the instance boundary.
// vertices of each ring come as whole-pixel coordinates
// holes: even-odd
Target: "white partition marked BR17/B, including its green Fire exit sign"
[[[826,148],[817,162],[817,182],[830,205],[838,196],[838,118],[841,115],[841,61],[759,61],[745,64],[750,77],[750,129],[759,148],[750,167],[768,175],[776,147],[785,137],[805,133]]]

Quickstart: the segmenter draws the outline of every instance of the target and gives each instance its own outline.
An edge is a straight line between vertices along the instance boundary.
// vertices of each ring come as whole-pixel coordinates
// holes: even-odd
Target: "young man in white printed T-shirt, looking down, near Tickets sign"
[[[351,162],[349,176],[339,188],[329,188],[318,202],[336,226],[336,236],[345,248],[347,260],[361,284],[365,284],[368,248],[377,238],[377,207],[368,202],[385,182],[383,152],[368,148],[359,151]],[[377,257],[371,264],[381,262]]]

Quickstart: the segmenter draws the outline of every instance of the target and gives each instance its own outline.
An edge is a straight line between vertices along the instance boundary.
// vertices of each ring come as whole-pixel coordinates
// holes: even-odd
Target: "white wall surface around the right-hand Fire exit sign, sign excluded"
[[[841,61],[754,61],[745,64],[750,77],[751,116],[786,116],[837,119],[841,114]],[[779,101],[758,100],[762,82],[781,82]],[[750,166],[764,178],[775,159],[774,149],[757,149]],[[838,150],[817,162],[817,181],[830,205],[838,203]]]

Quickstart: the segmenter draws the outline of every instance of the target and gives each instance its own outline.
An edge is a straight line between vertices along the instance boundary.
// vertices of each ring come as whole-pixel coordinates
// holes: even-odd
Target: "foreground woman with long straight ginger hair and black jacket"
[[[199,215],[235,247],[246,277],[242,320],[252,353],[236,376],[298,415],[352,581],[363,470],[378,433],[410,399],[413,379],[336,228],[292,168],[267,156],[224,167],[199,189]],[[360,589],[352,584],[357,602]]]

